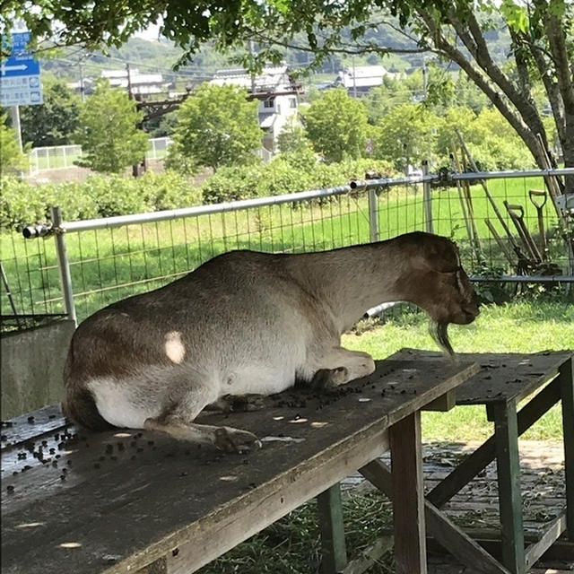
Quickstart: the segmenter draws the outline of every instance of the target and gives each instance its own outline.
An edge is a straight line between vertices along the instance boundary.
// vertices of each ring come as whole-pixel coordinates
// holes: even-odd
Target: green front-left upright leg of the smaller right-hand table
[[[512,574],[524,574],[524,526],[520,493],[517,406],[514,402],[494,404],[489,414],[489,418],[494,420],[496,442],[502,563]]]

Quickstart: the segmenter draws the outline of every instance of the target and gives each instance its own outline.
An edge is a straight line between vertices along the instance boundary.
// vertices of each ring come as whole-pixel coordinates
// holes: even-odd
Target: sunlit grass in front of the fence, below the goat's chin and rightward
[[[402,347],[437,349],[422,313],[391,318],[363,335],[344,335],[344,346],[383,359]],[[457,352],[538,352],[574,349],[574,305],[549,301],[517,301],[483,307],[469,326],[450,326]],[[423,439],[476,440],[491,435],[483,406],[456,407],[448,413],[422,413]],[[524,439],[561,439],[561,409],[554,406],[522,435]]]

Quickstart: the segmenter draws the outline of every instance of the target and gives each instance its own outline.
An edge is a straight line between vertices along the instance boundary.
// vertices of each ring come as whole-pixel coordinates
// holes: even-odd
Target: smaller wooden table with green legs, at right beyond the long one
[[[434,365],[440,354],[403,349],[396,358]],[[466,457],[427,496],[427,504],[440,509],[476,474],[496,459],[500,506],[500,565],[491,562],[486,572],[524,574],[562,535],[570,543],[574,562],[574,378],[572,352],[473,354],[460,353],[460,361],[476,362],[480,370],[457,388],[457,405],[481,404],[494,423],[493,435]],[[532,396],[536,393],[535,396]],[[518,404],[530,397],[518,410]],[[546,527],[541,538],[525,548],[520,491],[518,437],[561,401],[564,437],[566,505]],[[472,437],[469,437],[471,439]],[[431,531],[431,525],[429,525]],[[457,543],[453,543],[457,544]],[[474,552],[449,552],[475,566]]]

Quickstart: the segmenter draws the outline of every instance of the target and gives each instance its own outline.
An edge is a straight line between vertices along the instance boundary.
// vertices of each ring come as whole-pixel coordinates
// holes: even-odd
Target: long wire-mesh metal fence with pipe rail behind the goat
[[[413,230],[455,239],[474,281],[572,283],[573,214],[556,208],[552,191],[566,174],[574,169],[381,178],[78,222],[54,209],[51,224],[24,230],[37,240],[4,240],[13,306],[3,297],[2,307],[82,320],[231,249],[297,253]]]

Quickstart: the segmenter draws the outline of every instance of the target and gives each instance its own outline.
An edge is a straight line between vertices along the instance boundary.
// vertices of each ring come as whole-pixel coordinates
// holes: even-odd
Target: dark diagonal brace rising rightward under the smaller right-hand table
[[[555,379],[534,396],[517,414],[518,435],[526,432],[561,397],[558,381]],[[489,465],[496,456],[494,437],[487,439],[471,455],[457,466],[448,476],[427,495],[437,508],[442,507],[458,491]]]

